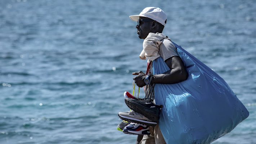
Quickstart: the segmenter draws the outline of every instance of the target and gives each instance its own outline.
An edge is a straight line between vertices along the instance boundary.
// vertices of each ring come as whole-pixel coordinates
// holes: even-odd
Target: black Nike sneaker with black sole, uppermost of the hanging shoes
[[[125,98],[126,105],[135,112],[143,114],[145,117],[152,121],[158,121],[162,105],[156,105],[152,99],[136,100],[131,98]]]

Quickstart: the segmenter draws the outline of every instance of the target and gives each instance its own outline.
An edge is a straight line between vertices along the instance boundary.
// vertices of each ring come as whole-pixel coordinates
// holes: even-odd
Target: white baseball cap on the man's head
[[[163,12],[160,8],[157,7],[147,7],[142,10],[142,12],[139,15],[131,15],[129,16],[131,20],[138,21],[139,17],[147,17],[151,18],[165,26],[165,22],[167,19],[167,16],[165,12]]]

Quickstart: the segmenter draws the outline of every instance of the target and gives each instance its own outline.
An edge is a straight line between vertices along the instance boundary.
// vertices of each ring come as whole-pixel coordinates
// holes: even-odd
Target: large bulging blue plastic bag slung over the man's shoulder
[[[177,84],[155,84],[156,104],[163,105],[160,130],[167,144],[209,144],[233,130],[249,112],[223,78],[174,45],[189,76]],[[153,61],[153,74],[169,70],[162,57]]]

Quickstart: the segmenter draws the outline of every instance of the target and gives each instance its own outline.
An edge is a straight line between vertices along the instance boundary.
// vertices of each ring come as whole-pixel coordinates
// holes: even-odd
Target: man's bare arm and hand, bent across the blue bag
[[[163,74],[154,75],[153,84],[175,84],[187,80],[188,73],[180,57],[174,56],[165,60],[165,62],[170,70]],[[143,87],[146,85],[144,79],[147,75],[145,73],[139,71],[133,73],[133,75],[138,75],[133,78],[137,86]]]

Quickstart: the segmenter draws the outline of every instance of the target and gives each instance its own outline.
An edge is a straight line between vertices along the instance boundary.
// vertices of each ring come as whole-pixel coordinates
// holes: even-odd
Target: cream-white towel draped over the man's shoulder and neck
[[[166,36],[163,33],[149,33],[146,39],[143,41],[143,50],[139,57],[141,59],[147,58],[149,61],[153,61],[158,57],[161,57],[159,53],[159,46],[162,43],[161,40],[163,39],[166,39]]]

